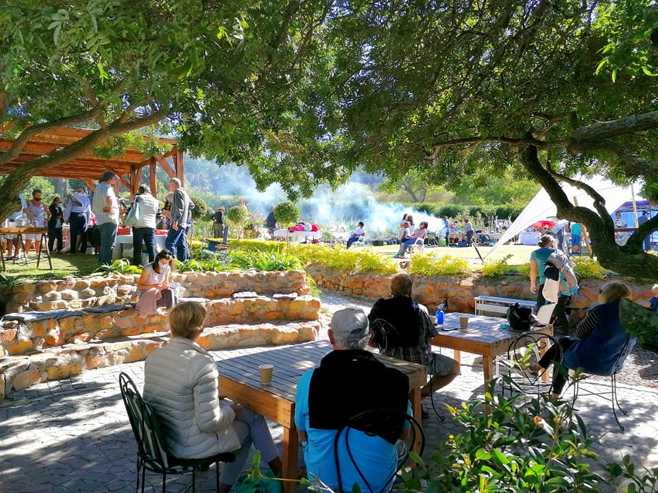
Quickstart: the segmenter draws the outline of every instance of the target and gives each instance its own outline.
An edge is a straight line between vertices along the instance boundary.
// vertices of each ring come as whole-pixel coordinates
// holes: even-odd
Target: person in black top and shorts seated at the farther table
[[[378,299],[368,314],[371,325],[384,327],[374,331],[370,345],[387,356],[426,366],[432,376],[421,392],[428,396],[453,381],[461,368],[454,359],[432,353],[431,340],[439,331],[427,308],[411,299],[412,289],[410,275],[400,273],[391,278],[391,298]]]

